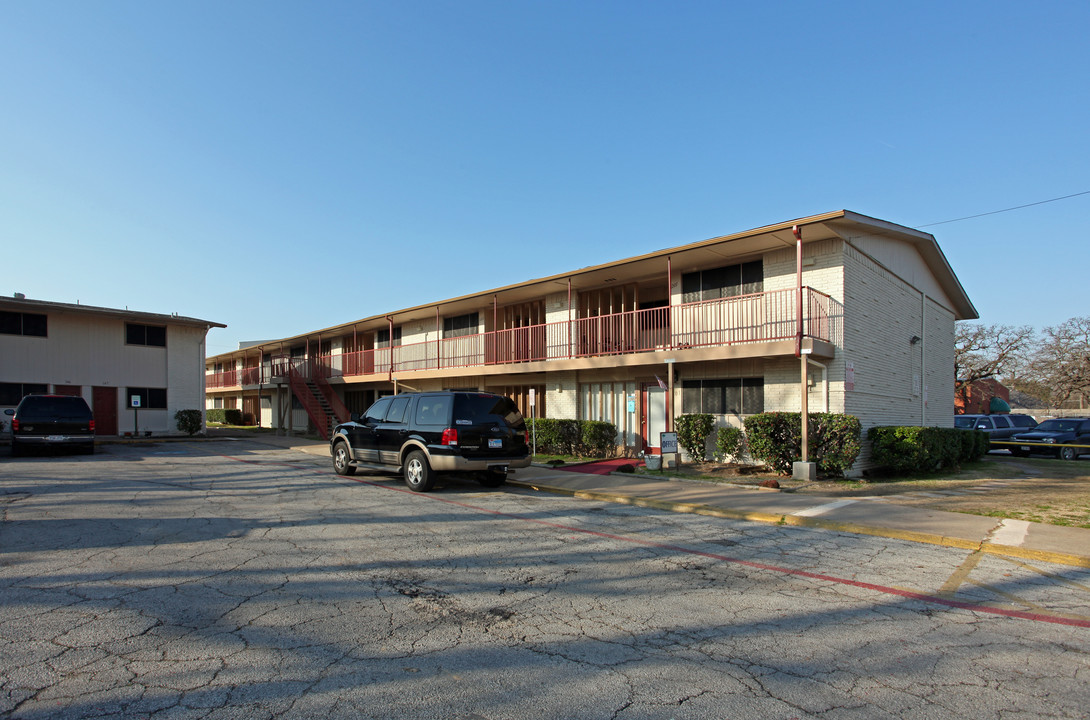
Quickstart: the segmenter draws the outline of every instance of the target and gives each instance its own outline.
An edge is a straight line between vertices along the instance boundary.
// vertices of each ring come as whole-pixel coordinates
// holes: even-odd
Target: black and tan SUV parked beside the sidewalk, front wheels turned
[[[378,400],[363,416],[334,428],[334,469],[398,469],[411,490],[426,492],[436,473],[472,473],[495,488],[512,467],[530,465],[526,424],[504,395],[408,392]]]

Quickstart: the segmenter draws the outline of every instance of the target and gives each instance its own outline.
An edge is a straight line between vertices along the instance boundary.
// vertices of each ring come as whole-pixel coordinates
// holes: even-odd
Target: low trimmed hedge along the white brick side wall
[[[988,434],[948,427],[881,426],[867,431],[871,459],[896,473],[957,469],[988,452]]]

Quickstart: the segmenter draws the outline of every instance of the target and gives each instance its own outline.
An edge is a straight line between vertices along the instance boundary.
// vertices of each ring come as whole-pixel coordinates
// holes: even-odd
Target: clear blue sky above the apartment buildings
[[[1087,2],[0,0],[0,293],[217,354],[846,208],[1090,191]],[[932,232],[1090,314],[1090,194]]]

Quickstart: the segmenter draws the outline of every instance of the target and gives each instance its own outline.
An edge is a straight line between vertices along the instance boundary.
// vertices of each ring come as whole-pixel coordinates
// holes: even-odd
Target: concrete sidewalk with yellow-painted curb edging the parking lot
[[[329,456],[329,444],[320,440],[267,435],[246,439]],[[1090,568],[1090,529],[923,510],[888,499],[823,498],[665,476],[590,475],[544,466],[516,471],[508,483],[589,500],[874,535]]]

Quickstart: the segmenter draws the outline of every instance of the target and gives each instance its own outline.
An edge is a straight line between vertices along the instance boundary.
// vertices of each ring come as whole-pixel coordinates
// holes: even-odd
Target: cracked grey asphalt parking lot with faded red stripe
[[[251,441],[0,457],[0,716],[1086,717],[1090,571]]]

